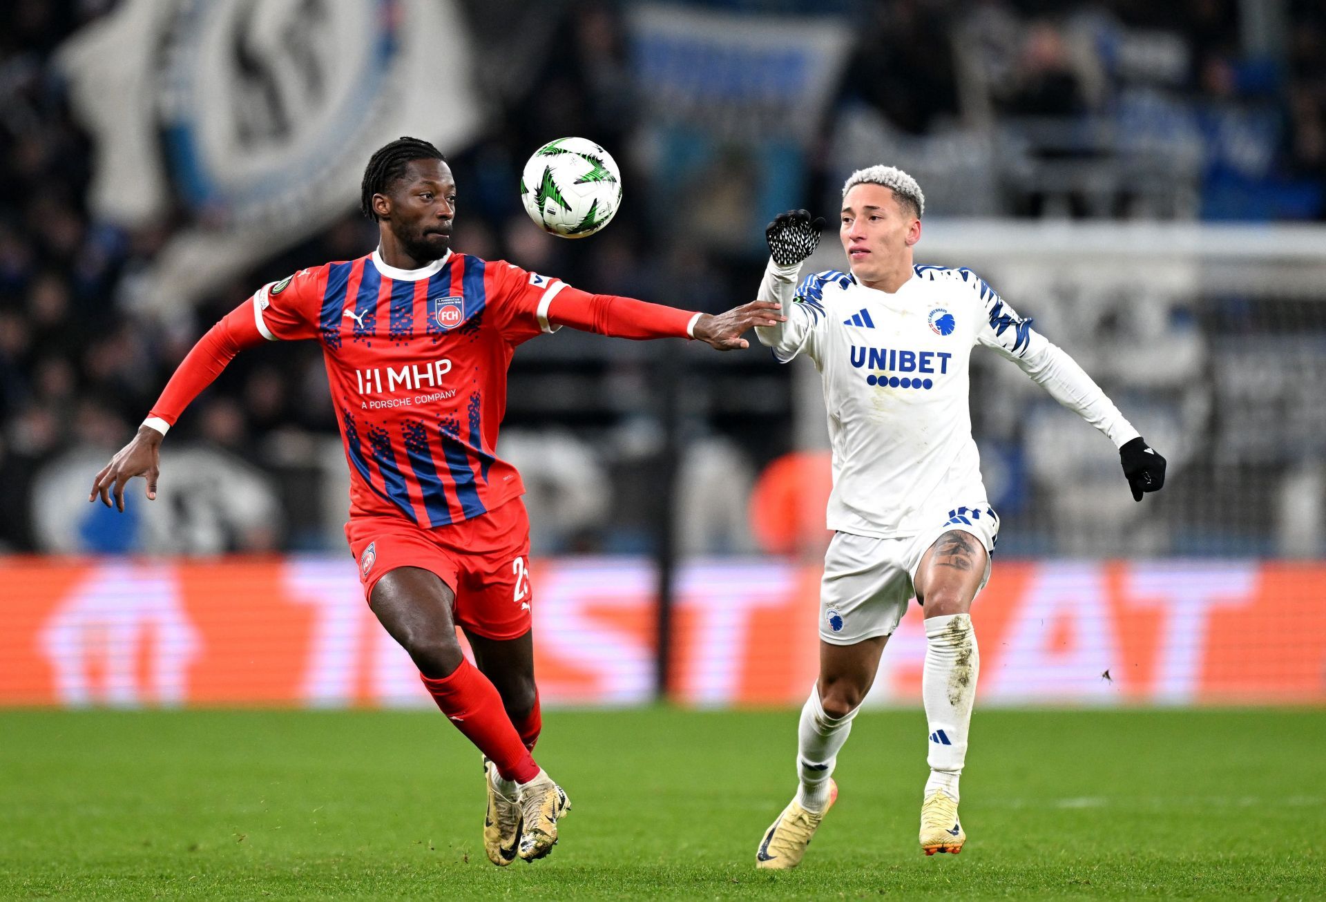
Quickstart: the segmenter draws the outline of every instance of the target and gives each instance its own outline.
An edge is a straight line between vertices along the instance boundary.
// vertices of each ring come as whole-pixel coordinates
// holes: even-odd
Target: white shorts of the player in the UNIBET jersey
[[[985,574],[976,589],[980,594],[991,578],[998,516],[983,503],[956,508],[937,520],[934,529],[903,539],[834,533],[819,584],[821,639],[830,645],[855,645],[892,634],[907,613],[907,602],[916,597],[914,580],[920,558],[951,529],[968,532],[985,547]]]

